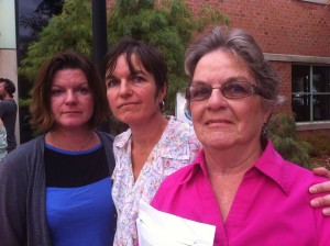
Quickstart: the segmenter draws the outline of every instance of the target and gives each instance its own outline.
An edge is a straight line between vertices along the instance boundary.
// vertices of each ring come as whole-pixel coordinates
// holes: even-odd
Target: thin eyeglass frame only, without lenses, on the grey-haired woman
[[[246,96],[244,96],[244,97],[239,97],[239,98],[227,97],[227,96],[223,93],[222,88],[226,88],[226,87],[223,87],[223,86],[229,85],[229,83],[233,83],[233,82],[244,82],[245,85],[249,85],[249,86],[250,86],[250,93],[246,94]],[[193,101],[193,102],[207,101],[207,100],[209,100],[209,98],[212,96],[213,89],[220,89],[222,96],[223,96],[226,99],[230,99],[230,100],[244,99],[244,98],[249,98],[249,97],[251,97],[251,96],[253,96],[253,94],[258,94],[258,96],[263,97],[263,93],[261,92],[261,89],[260,89],[257,86],[255,86],[255,85],[253,85],[252,82],[250,82],[250,81],[240,81],[240,80],[238,80],[238,81],[227,81],[227,82],[222,83],[221,86],[217,86],[217,87],[211,87],[211,86],[208,85],[208,83],[202,83],[202,86],[208,87],[208,89],[211,88],[211,93],[210,93],[207,98],[200,99],[200,100],[191,100],[191,92],[190,92],[190,90],[191,90],[191,88],[198,87],[198,86],[188,86],[188,87],[186,87],[186,97],[185,97],[186,100]],[[264,98],[264,97],[263,97],[263,98]]]

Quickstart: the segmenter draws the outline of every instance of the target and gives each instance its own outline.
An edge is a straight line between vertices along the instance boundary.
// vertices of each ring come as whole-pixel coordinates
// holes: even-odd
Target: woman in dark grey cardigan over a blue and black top
[[[88,57],[67,51],[42,66],[31,103],[42,134],[0,165],[1,245],[112,245],[113,137],[95,131],[108,113]]]

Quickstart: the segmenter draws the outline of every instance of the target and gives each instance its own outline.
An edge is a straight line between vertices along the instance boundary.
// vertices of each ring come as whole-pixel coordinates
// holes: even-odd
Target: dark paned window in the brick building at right
[[[296,121],[330,121],[330,67],[293,65],[292,78]]]

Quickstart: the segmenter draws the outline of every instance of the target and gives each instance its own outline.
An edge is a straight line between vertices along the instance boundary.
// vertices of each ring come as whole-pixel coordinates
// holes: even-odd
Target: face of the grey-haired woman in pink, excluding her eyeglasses
[[[198,62],[191,85],[221,87],[238,80],[256,85],[240,58],[229,52],[215,51]],[[270,115],[260,96],[227,99],[220,89],[213,89],[208,100],[191,101],[190,110],[196,135],[204,147],[217,149],[258,144],[262,125]]]

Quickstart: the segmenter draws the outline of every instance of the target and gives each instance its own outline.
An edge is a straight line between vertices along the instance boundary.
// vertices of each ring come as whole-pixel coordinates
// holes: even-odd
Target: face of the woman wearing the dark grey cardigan
[[[51,109],[56,127],[86,127],[94,113],[94,96],[80,69],[55,72],[51,88]]]

